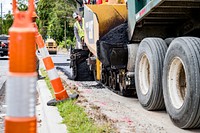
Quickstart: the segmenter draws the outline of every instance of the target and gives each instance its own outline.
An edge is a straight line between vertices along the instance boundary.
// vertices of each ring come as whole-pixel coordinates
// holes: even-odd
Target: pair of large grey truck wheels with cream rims
[[[166,110],[180,128],[200,127],[200,39],[145,38],[136,58],[138,99],[147,110]]]

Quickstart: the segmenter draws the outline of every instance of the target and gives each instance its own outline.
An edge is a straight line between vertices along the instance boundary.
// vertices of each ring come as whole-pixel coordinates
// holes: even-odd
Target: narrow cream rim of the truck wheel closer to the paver
[[[146,54],[139,62],[139,85],[142,94],[146,95],[150,89],[150,63]]]

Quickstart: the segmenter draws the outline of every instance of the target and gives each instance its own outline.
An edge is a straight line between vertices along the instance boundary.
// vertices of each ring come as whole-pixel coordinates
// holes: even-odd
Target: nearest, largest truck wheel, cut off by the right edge
[[[180,37],[170,44],[163,69],[167,112],[180,128],[200,127],[200,38]]]

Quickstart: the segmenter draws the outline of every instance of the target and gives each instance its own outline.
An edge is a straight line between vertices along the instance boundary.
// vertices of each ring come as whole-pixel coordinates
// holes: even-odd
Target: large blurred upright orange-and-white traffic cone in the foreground
[[[13,0],[14,22],[9,29],[9,73],[6,85],[5,133],[36,133],[35,28],[31,23],[34,0],[27,11],[17,10]]]

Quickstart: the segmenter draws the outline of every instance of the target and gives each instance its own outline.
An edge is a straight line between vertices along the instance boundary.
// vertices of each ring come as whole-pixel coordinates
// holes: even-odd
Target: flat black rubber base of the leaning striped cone
[[[61,102],[67,101],[67,100],[77,99],[78,97],[79,97],[79,95],[77,93],[74,93],[74,94],[69,95],[68,98],[63,99],[63,100],[52,99],[47,102],[47,105],[48,106],[56,106],[58,103],[61,103]]]

